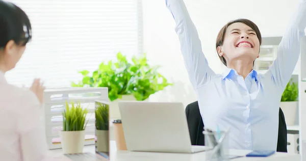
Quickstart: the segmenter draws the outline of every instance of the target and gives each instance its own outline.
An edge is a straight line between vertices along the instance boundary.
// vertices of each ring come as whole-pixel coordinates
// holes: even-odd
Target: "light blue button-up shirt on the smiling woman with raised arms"
[[[276,150],[279,104],[299,58],[306,1],[295,10],[269,70],[264,74],[252,70],[245,79],[229,68],[216,74],[203,55],[183,0],[168,0],[166,6],[176,22],[175,31],[205,127],[230,128],[229,145],[233,149]]]

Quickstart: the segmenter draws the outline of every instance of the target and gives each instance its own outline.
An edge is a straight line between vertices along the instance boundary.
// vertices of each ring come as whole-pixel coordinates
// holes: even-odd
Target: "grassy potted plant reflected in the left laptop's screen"
[[[96,148],[99,152],[109,152],[109,105],[98,102],[95,107]]]

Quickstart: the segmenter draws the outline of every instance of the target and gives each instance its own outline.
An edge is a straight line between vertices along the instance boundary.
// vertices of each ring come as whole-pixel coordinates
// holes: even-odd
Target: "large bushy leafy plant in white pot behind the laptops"
[[[151,94],[163,90],[172,84],[157,70],[160,66],[150,66],[146,54],[132,57],[117,53],[117,61],[102,62],[98,69],[89,74],[88,70],[80,71],[82,81],[71,84],[72,87],[107,87],[109,93],[110,114],[112,119],[120,119],[118,100],[146,100]]]

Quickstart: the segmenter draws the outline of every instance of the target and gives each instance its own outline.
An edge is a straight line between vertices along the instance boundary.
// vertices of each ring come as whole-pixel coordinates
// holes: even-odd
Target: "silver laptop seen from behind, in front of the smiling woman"
[[[130,151],[195,153],[183,103],[119,101],[126,148]]]

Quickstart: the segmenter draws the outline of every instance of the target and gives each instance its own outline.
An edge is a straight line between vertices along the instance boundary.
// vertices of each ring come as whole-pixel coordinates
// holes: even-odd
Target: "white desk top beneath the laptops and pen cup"
[[[111,141],[110,144],[110,158],[111,161],[156,161],[156,160],[176,160],[176,161],[195,161],[195,160],[206,160],[208,152],[198,152],[193,154],[185,153],[157,153],[157,152],[134,152],[134,151],[117,151],[116,144]],[[55,153],[62,153],[62,149],[51,150]],[[95,153],[94,145],[84,146],[84,152]],[[232,155],[246,155],[248,150],[230,150]],[[231,159],[231,161],[300,161],[299,154],[280,153],[276,152],[270,157],[240,157]]]

